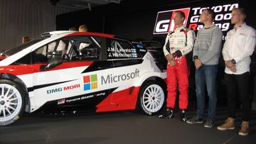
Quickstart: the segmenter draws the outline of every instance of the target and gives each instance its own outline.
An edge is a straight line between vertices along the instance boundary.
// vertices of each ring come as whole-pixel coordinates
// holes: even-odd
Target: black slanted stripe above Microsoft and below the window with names
[[[85,72],[95,72],[97,70],[106,70],[114,67],[125,67],[129,65],[137,65],[143,62],[142,59],[130,59],[130,60],[110,60],[110,61],[95,61],[86,70]]]

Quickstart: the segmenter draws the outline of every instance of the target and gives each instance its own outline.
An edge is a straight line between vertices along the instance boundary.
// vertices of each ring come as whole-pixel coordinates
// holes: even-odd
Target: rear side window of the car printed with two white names
[[[107,59],[127,59],[141,57],[129,42],[119,39],[107,39]]]

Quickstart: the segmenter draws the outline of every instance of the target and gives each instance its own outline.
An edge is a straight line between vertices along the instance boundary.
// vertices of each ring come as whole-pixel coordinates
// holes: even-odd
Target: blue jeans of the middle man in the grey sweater
[[[203,110],[205,106],[205,89],[207,88],[209,96],[208,104],[208,118],[215,120],[216,111],[216,77],[218,72],[218,65],[202,65],[196,69],[196,98],[197,111],[196,116],[203,118]]]

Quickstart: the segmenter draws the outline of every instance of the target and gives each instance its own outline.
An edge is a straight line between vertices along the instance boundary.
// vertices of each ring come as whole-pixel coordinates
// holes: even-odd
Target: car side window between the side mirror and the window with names
[[[100,41],[97,41],[92,36],[82,35],[73,38],[75,45],[73,45],[71,52],[71,60],[98,60],[100,57]]]

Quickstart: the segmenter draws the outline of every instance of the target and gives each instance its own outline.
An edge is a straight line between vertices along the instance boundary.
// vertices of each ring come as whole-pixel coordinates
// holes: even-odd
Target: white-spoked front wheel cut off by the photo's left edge
[[[0,80],[0,126],[17,121],[24,111],[23,89],[7,79]]]

